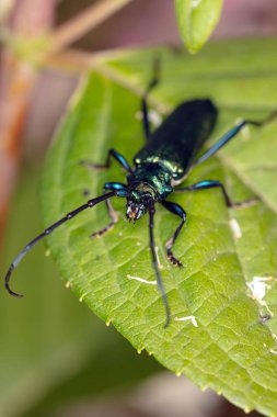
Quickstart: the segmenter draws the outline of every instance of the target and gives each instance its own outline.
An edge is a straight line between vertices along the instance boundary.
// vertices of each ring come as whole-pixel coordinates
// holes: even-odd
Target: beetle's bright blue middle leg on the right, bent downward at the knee
[[[253,203],[255,203],[258,198],[255,196],[253,199],[246,200],[246,201],[241,201],[241,202],[232,202],[230,196],[228,195],[228,192],[226,191],[224,185],[220,181],[216,180],[204,180],[196,182],[195,184],[182,188],[182,189],[175,189],[174,192],[183,192],[183,191],[197,191],[197,190],[206,190],[206,189],[213,189],[213,188],[219,188],[223,194],[226,205],[228,207],[249,207]]]

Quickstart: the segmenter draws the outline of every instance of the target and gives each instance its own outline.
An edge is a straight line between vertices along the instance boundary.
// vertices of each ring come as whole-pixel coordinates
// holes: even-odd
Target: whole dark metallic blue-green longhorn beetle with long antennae
[[[108,223],[101,230],[94,233],[92,237],[103,235],[117,222],[117,214],[114,211],[109,199],[113,196],[120,196],[127,200],[126,216],[129,221],[136,222],[146,213],[149,215],[149,245],[157,284],[165,308],[166,319],[164,327],[170,324],[171,311],[159,270],[154,245],[153,228],[155,204],[160,203],[165,210],[181,218],[177,228],[165,244],[169,261],[181,268],[182,263],[173,255],[172,247],[186,222],[186,212],[183,207],[181,207],[181,205],[169,201],[168,196],[173,192],[176,193],[217,188],[221,191],[228,207],[247,206],[251,201],[233,203],[229,198],[224,185],[220,181],[201,180],[188,187],[175,187],[182,183],[194,167],[205,162],[208,158],[221,149],[243,128],[243,126],[253,125],[261,127],[272,121],[277,113],[275,112],[270,114],[263,121],[242,121],[240,124],[228,131],[213,146],[204,151],[203,155],[197,158],[198,151],[200,151],[203,145],[208,139],[217,121],[218,111],[215,104],[208,99],[185,101],[181,103],[154,132],[151,132],[148,111],[148,94],[152,88],[158,84],[158,82],[159,63],[155,60],[153,65],[152,79],[149,82],[141,101],[142,125],[146,144],[134,157],[135,167],[132,168],[127,159],[115,149],[108,150],[106,162],[104,165],[82,161],[82,164],[94,169],[107,169],[111,166],[112,158],[114,158],[127,172],[127,184],[120,182],[106,182],[103,188],[103,195],[91,199],[85,204],[74,208],[72,212],[68,213],[58,222],[47,227],[41,235],[31,240],[13,260],[7,272],[5,289],[11,295],[15,297],[22,296],[11,290],[10,279],[14,268],[34,245],[36,245],[44,237],[48,236],[57,227],[77,216],[79,213],[105,201],[111,217],[111,223]]]

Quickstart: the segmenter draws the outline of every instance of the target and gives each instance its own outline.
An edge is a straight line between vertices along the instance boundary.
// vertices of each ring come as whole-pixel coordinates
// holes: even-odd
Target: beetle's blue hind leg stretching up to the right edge
[[[238,133],[245,126],[245,125],[252,125],[252,126],[256,126],[256,127],[262,127],[264,126],[265,124],[272,122],[274,119],[277,117],[277,112],[273,112],[272,114],[269,114],[269,116],[267,116],[266,119],[264,119],[263,121],[251,121],[251,120],[245,120],[245,121],[242,121],[238,126],[234,126],[233,128],[231,128],[230,131],[228,131],[222,137],[221,139],[219,139],[213,146],[211,146],[211,148],[209,148],[204,155],[200,156],[200,158],[198,158],[195,162],[194,162],[194,167],[204,162],[205,160],[207,160],[209,157],[211,157],[212,155],[215,155],[219,149],[221,149],[226,144],[228,144],[229,140],[231,140],[235,135],[238,135]]]

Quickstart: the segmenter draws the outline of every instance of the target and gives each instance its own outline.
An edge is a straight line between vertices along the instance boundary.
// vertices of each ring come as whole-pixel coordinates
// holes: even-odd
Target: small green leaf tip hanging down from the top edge
[[[175,0],[180,34],[191,53],[210,36],[221,13],[222,0]]]

